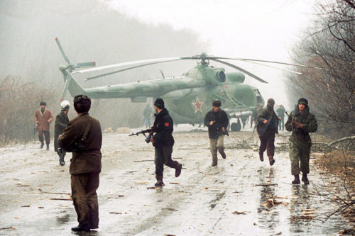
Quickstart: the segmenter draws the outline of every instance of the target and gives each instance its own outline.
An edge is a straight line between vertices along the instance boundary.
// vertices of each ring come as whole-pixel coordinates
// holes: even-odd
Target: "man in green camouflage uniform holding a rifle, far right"
[[[302,181],[305,184],[310,184],[307,178],[307,174],[310,173],[310,147],[312,146],[309,133],[317,131],[317,120],[310,113],[307,99],[298,100],[285,127],[286,130],[292,132],[289,150],[291,174],[295,176],[292,184],[300,184],[300,172],[302,172]]]

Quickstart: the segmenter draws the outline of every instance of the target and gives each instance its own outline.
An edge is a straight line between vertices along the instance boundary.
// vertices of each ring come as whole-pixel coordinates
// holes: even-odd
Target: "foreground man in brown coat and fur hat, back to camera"
[[[91,100],[85,95],[74,98],[77,117],[70,120],[58,145],[72,151],[71,174],[72,201],[79,225],[72,231],[90,231],[99,227],[99,173],[101,172],[102,130],[99,120],[89,116]]]

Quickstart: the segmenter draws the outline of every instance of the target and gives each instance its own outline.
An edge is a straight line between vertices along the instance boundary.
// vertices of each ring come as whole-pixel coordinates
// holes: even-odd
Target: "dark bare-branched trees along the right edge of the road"
[[[304,96],[333,137],[355,134],[355,8],[351,1],[318,4],[315,28],[293,50],[295,61],[322,69],[302,69],[290,76],[290,96]]]

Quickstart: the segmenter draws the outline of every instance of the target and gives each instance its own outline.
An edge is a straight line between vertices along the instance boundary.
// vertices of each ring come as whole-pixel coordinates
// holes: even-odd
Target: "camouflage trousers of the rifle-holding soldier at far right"
[[[310,173],[310,146],[290,143],[291,174]]]

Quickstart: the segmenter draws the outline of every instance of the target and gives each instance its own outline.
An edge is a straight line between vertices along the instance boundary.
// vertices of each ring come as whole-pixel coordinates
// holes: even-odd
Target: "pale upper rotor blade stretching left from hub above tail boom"
[[[138,60],[138,61],[133,61],[133,62],[123,62],[123,63],[118,63],[118,64],[108,64],[106,66],[102,67],[95,67],[95,68],[90,68],[90,69],[81,69],[76,72],[72,72],[72,74],[76,73],[85,73],[85,72],[95,72],[97,70],[102,70],[102,69],[110,69],[110,68],[115,68],[115,67],[125,67],[133,64],[142,64],[146,63],[148,64],[157,64],[157,63],[162,63],[162,62],[173,62],[173,61],[178,61],[178,60],[188,60],[192,59],[192,57],[165,57],[165,58],[158,58],[158,59],[148,59],[148,60]],[[148,62],[148,63],[147,63]],[[145,64],[140,65],[143,67]],[[136,68],[132,67],[131,69]],[[129,68],[127,68],[129,69]]]

